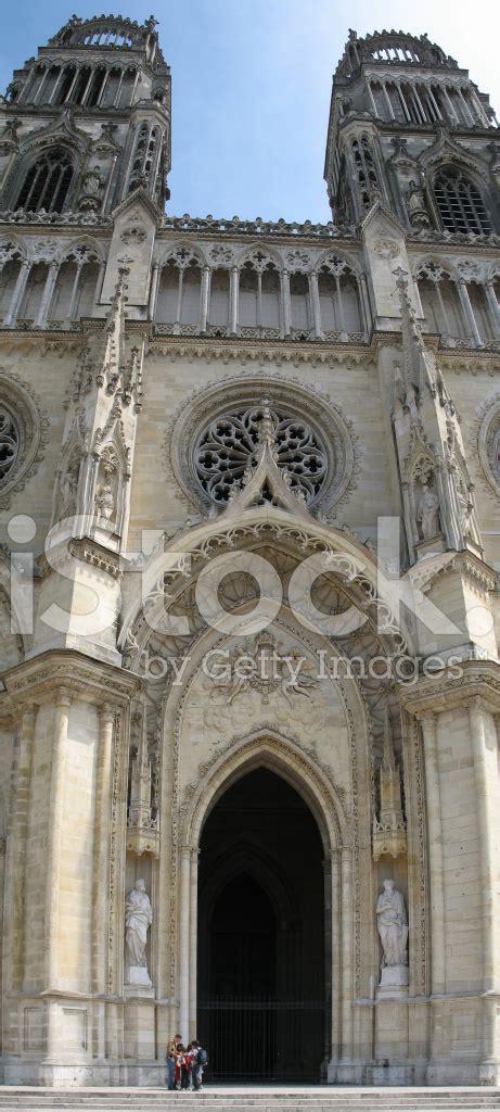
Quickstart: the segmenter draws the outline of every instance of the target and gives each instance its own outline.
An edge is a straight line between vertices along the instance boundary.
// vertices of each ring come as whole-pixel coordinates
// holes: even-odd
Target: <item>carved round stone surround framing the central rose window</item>
[[[312,473],[308,479],[311,507],[326,510],[344,500],[354,486],[357,470],[351,423],[328,395],[313,394],[310,388],[306,390],[294,380],[262,374],[238,376],[226,381],[219,379],[217,384],[192,394],[178,410],[167,436],[167,448],[184,497],[197,506],[213,506],[212,496],[203,489],[197,473],[197,451],[199,455],[203,430],[229,411],[241,415],[258,407],[264,396],[270,397],[272,408],[284,420],[296,420],[303,429],[307,428],[308,451],[313,446],[318,459],[320,455],[323,457],[321,486],[312,489]],[[304,460],[300,466],[303,469]]]

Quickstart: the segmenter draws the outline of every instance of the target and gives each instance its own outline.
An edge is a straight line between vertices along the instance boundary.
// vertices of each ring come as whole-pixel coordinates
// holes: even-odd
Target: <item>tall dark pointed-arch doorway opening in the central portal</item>
[[[328,1051],[323,852],[280,776],[228,788],[203,827],[198,1032],[217,1080],[319,1081]]]

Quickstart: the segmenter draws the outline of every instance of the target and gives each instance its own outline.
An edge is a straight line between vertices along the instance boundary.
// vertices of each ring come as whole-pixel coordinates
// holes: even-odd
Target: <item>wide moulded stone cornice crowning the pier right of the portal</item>
[[[459,673],[459,674],[457,674]],[[459,665],[422,676],[414,685],[400,687],[401,705],[421,717],[457,706],[468,706],[479,698],[488,711],[500,711],[500,664],[496,661],[463,661]]]

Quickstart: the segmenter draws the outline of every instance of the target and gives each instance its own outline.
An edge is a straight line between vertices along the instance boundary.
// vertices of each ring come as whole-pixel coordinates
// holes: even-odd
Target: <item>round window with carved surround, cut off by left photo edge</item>
[[[43,458],[49,419],[37,394],[21,379],[0,370],[0,509],[22,490]]]

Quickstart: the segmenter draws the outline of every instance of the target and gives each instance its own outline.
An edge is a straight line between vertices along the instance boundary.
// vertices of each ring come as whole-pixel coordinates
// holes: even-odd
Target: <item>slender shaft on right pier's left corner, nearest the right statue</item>
[[[429,838],[431,993],[436,995],[446,989],[444,880],[436,714],[422,714],[420,724],[423,734]]]

